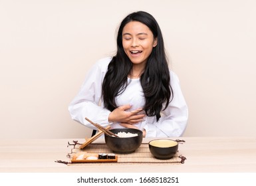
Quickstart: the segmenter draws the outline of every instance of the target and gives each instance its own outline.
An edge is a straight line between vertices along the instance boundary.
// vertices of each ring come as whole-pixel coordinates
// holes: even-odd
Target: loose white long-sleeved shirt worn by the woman
[[[80,91],[68,106],[70,116],[76,122],[96,130],[92,124],[84,118],[88,118],[101,126],[111,125],[111,128],[122,128],[118,123],[109,123],[110,110],[104,108],[101,103],[102,81],[108,70],[108,64],[112,58],[98,60],[86,75]],[[146,130],[146,137],[166,138],[182,136],[188,122],[188,106],[180,88],[180,81],[174,72],[170,71],[170,84],[174,92],[174,98],[166,110],[162,111],[161,118],[156,122],[156,117],[145,116],[144,121],[136,124],[140,129]],[[128,86],[124,92],[116,98],[117,106],[131,104],[130,110],[143,108],[145,103],[140,79],[128,78]]]

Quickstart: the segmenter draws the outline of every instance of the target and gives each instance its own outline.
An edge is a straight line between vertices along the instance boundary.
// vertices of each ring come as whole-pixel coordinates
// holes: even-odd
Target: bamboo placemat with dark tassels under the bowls
[[[112,153],[111,149],[106,146],[105,143],[91,143],[84,149],[75,148],[72,153],[79,153],[86,151],[88,153]],[[184,163],[186,157],[182,156],[179,152],[172,157],[172,159],[156,159],[151,153],[148,147],[148,143],[142,143],[140,147],[134,153],[128,154],[118,154],[117,162],[84,162],[84,163],[66,163],[67,165],[77,165],[77,164],[106,164],[108,165],[122,165],[122,164],[181,164]],[[63,162],[59,162],[63,163]]]

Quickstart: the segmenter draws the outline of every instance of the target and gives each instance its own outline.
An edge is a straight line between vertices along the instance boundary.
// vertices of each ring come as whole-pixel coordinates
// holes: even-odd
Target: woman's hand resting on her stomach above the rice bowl
[[[140,114],[142,112],[142,108],[138,108],[132,111],[126,111],[130,109],[132,106],[130,104],[120,106],[110,112],[108,116],[108,122],[119,122],[125,124],[138,124],[139,122],[144,121],[143,118],[145,114]]]

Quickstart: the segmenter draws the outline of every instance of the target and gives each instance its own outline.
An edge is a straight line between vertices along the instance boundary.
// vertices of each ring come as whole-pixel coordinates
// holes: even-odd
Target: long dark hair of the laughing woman
[[[116,96],[122,94],[128,84],[128,74],[132,69],[132,62],[124,52],[122,46],[122,31],[131,21],[139,21],[146,25],[157,39],[157,45],[148,57],[146,68],[140,77],[146,103],[144,110],[147,116],[156,116],[158,121],[160,112],[165,110],[172,101],[173,91],[170,86],[170,72],[164,48],[164,39],[156,19],[149,13],[138,11],[131,13],[121,22],[117,35],[117,52],[108,65],[108,71],[102,82],[102,98],[104,106],[112,111],[116,106]],[[164,107],[164,108],[163,108]]]

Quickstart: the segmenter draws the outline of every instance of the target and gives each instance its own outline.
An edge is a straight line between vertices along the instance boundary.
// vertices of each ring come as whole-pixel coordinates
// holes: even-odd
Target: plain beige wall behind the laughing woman
[[[190,109],[184,136],[256,136],[256,3],[236,1],[0,1],[0,138],[84,138],[68,104],[116,29],[148,11]]]

